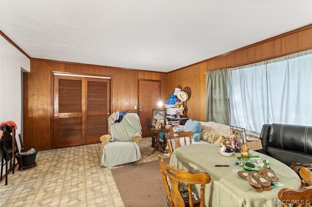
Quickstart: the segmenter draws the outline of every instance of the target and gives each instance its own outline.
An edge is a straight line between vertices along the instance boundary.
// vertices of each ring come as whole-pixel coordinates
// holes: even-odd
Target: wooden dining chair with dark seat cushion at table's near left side
[[[204,185],[211,182],[210,175],[205,172],[192,173],[173,168],[166,164],[160,155],[157,155],[157,157],[160,166],[160,173],[162,175],[164,187],[171,206],[205,207]],[[192,191],[191,184],[200,184],[200,197]],[[194,187],[194,185],[192,186]]]

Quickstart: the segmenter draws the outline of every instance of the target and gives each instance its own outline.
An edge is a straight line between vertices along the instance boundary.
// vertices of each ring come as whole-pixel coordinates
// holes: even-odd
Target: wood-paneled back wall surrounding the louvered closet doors
[[[137,113],[138,79],[161,80],[161,94],[165,94],[160,72],[119,69],[85,64],[31,59],[30,73],[24,74],[24,148],[51,149],[52,71],[102,75],[111,77],[111,112],[130,110]],[[165,100],[166,97],[161,97]],[[138,108],[138,107],[137,107]]]

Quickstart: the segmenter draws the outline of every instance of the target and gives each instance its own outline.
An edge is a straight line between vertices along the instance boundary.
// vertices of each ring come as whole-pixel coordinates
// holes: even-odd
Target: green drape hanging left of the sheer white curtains
[[[230,125],[228,69],[213,70],[206,73],[205,119],[205,121]]]

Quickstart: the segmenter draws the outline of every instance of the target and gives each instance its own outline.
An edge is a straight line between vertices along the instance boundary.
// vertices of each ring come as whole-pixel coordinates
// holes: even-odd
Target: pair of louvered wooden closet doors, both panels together
[[[109,79],[54,75],[54,148],[100,142],[109,103]]]

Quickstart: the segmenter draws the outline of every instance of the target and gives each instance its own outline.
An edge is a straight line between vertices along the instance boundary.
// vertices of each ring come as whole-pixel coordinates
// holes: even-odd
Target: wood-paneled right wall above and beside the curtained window
[[[189,87],[192,95],[187,101],[187,116],[205,121],[206,71],[248,65],[309,49],[312,49],[312,24],[169,72],[166,83],[170,90],[166,93],[172,93],[176,86]]]

